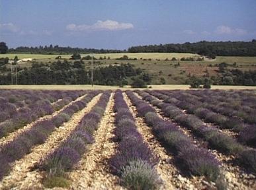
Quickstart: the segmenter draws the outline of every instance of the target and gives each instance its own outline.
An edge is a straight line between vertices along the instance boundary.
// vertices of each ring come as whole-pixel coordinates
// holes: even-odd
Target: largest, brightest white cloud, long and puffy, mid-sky
[[[93,25],[87,25],[87,24],[68,24],[66,26],[66,29],[69,31],[97,31],[97,30],[126,30],[134,28],[134,25],[132,23],[124,23],[124,22],[117,22],[114,20],[106,20],[101,21],[98,20]]]

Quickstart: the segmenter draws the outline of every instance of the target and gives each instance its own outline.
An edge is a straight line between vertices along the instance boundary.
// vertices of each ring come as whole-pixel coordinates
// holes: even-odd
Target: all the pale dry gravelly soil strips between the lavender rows
[[[204,179],[204,177],[185,177],[179,172],[174,163],[173,156],[165,150],[161,143],[155,138],[150,127],[146,125],[144,119],[137,117],[136,107],[132,106],[128,96],[125,93],[124,100],[128,104],[130,111],[133,113],[136,126],[138,127],[138,132],[144,138],[144,142],[148,144],[149,148],[152,150],[159,158],[159,164],[157,164],[156,170],[161,177],[162,184],[159,189],[216,189],[213,183],[209,183]],[[64,123],[61,127],[56,129],[44,144],[40,144],[32,148],[30,154],[27,154],[21,160],[13,163],[11,173],[3,178],[0,182],[0,189],[45,189],[42,185],[42,178],[44,172],[38,170],[31,170],[40,160],[46,158],[46,156],[57,148],[62,141],[71,133],[73,129],[77,126],[77,123],[81,120],[83,115],[88,113],[93,106],[99,101],[101,94],[95,96],[87,106],[78,111],[71,117],[69,121]],[[114,93],[111,94],[110,100],[107,104],[105,113],[101,119],[101,123],[98,125],[97,131],[95,131],[93,137],[95,142],[88,146],[87,152],[83,155],[80,162],[73,168],[71,172],[68,173],[71,181],[71,186],[69,189],[125,189],[120,186],[120,179],[116,175],[112,175],[110,172],[108,161],[115,154],[117,143],[112,141],[114,134],[114,117],[115,113],[113,110],[114,106]],[[82,97],[81,97],[82,98]],[[57,114],[60,111],[54,113]],[[157,110],[160,117],[160,111]],[[53,115],[48,115],[47,117],[52,117]],[[46,118],[47,118],[46,117]],[[163,119],[167,119],[163,117]],[[30,128],[30,125],[17,131],[8,137],[9,139],[1,139],[0,143],[5,143],[11,141],[11,139],[17,137],[22,131]],[[182,129],[185,134],[192,137],[191,131],[187,129]],[[200,139],[194,139],[194,143],[200,146],[202,144],[199,142]],[[216,154],[218,160],[222,163],[225,161],[224,156],[209,150]],[[224,163],[223,170],[227,171],[225,176],[226,181],[231,185],[228,185],[228,189],[254,189],[256,185],[253,186],[248,183],[255,184],[255,181],[250,179],[245,179],[246,177],[238,177],[240,180],[245,180],[248,183],[241,183],[242,181],[234,180],[234,182],[229,181],[230,179],[237,178],[233,175],[239,174],[239,168]],[[248,177],[248,176],[247,176]],[[236,183],[236,184],[234,184]],[[63,188],[54,188],[63,189]]]

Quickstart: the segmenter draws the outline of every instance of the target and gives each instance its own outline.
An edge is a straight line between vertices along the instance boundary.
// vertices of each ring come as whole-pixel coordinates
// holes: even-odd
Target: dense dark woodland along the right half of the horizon
[[[133,46],[129,53],[198,53],[214,58],[218,56],[256,56],[256,40],[251,42],[196,42],[185,44],[160,44]]]

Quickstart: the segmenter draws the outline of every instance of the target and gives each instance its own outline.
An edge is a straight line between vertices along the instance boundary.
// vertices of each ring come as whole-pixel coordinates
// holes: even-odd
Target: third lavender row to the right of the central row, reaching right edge
[[[147,91],[149,92],[149,91]],[[214,111],[210,111],[206,108],[200,107],[200,105],[194,105],[189,102],[196,102],[196,100],[190,98],[187,102],[186,98],[183,96],[179,96],[179,100],[175,97],[171,96],[162,96],[159,95],[157,92],[149,92],[149,94],[154,94],[156,97],[163,99],[163,102],[168,102],[178,106],[179,108],[183,108],[187,110],[188,113],[194,113],[194,115],[205,119],[206,122],[209,123],[217,123],[221,128],[228,128],[234,131],[239,131],[239,138],[238,141],[243,144],[247,144],[249,146],[256,147],[256,126],[255,125],[245,125],[241,119],[237,117],[225,117],[224,115],[220,115],[215,113]]]

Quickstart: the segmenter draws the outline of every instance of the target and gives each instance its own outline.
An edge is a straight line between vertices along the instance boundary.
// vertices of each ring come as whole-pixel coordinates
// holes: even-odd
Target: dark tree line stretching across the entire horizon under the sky
[[[0,53],[39,53],[39,54],[71,54],[71,53],[198,53],[210,58],[218,56],[256,56],[256,40],[251,42],[186,42],[184,44],[159,44],[148,46],[132,46],[124,50],[71,48],[61,46],[39,46],[8,49],[5,42],[0,42]]]

